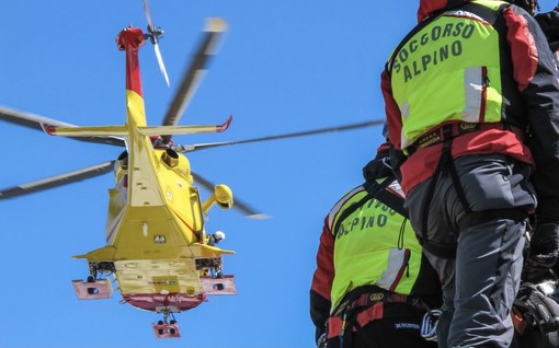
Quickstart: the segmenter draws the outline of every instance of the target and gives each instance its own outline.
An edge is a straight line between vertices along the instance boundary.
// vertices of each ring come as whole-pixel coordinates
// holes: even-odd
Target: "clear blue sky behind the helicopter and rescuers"
[[[140,51],[148,123],[158,125],[195,48],[205,18],[229,31],[181,124],[233,121],[224,134],[179,143],[241,140],[384,118],[379,74],[415,23],[417,1],[150,0],[166,31],[167,88],[150,45]],[[549,10],[555,4],[541,1]],[[116,34],[146,26],[141,0],[2,1],[0,105],[76,125],[122,124],[124,54]],[[49,138],[0,124],[0,187],[112,160],[121,149]],[[236,297],[212,297],[179,314],[183,337],[157,340],[159,315],[105,301],[78,301],[73,260],[104,245],[112,175],[0,201],[2,347],[312,347],[308,290],[323,218],[380,141],[379,127],[226,147],[189,155],[193,170],[270,214],[249,220],[212,210],[225,231],[225,272]],[[207,197],[203,193],[203,197]]]

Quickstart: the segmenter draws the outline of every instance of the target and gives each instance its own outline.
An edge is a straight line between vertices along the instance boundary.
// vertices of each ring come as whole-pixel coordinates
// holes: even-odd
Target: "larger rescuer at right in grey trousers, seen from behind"
[[[515,4],[420,0],[418,18],[381,90],[410,221],[443,281],[438,345],[510,347],[528,217],[526,279],[559,255],[559,73]]]

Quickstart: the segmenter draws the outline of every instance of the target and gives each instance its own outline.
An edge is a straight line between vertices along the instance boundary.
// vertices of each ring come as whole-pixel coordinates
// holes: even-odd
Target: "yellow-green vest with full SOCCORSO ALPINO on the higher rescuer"
[[[390,81],[402,117],[402,149],[444,123],[501,121],[501,38],[490,21],[503,4],[471,1],[446,11],[393,54]],[[488,12],[493,19],[481,16]]]

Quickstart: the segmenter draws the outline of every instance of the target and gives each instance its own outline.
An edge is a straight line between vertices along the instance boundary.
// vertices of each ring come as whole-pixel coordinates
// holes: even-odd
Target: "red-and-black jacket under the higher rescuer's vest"
[[[461,0],[421,0],[418,19]],[[559,73],[544,33],[524,10],[507,5],[500,15],[505,23],[507,49],[501,51],[511,77],[503,86],[506,123],[529,132],[523,141],[509,130],[489,129],[456,137],[454,158],[467,154],[501,153],[535,165],[534,184],[538,194],[537,214],[541,221],[559,221]],[[436,21],[436,19],[434,20]],[[401,186],[408,194],[415,185],[433,175],[442,144],[418,150],[407,158],[400,151],[401,114],[391,93],[389,72],[381,74],[381,90],[386,103],[388,132],[392,146],[392,164],[401,175]],[[429,101],[427,101],[429,103]],[[527,138],[527,137],[526,137]],[[421,169],[421,170],[419,170]]]

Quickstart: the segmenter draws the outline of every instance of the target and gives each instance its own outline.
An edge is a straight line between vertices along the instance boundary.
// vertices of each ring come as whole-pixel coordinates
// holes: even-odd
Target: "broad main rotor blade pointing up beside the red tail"
[[[169,111],[163,118],[163,126],[176,125],[189,105],[196,88],[206,70],[217,45],[217,40],[226,30],[226,23],[221,19],[209,19],[206,25],[206,35],[203,37],[194,58],[183,77],[183,80],[171,102]],[[163,137],[167,143],[171,136]]]

